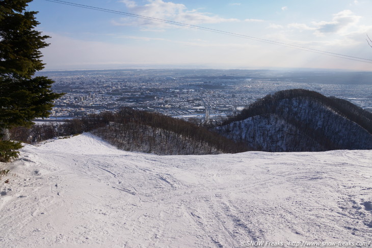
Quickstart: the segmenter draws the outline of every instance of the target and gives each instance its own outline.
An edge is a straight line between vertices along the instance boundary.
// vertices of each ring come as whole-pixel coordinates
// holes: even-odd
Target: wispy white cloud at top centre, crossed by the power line
[[[131,0],[121,0],[131,13],[151,18],[164,19],[169,21],[182,22],[192,25],[201,23],[221,23],[239,21],[235,18],[222,18],[210,13],[199,12],[198,10],[188,10],[183,4],[164,2],[163,0],[148,0],[148,4],[138,6]],[[121,18],[120,21],[113,21],[115,25],[146,25],[152,27],[174,27],[175,25],[149,20]]]

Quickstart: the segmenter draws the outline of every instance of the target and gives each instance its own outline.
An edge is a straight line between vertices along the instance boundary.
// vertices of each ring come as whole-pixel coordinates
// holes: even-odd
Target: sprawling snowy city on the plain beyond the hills
[[[308,89],[372,112],[372,72],[126,69],[45,71],[55,80],[51,118],[81,117],[128,106],[164,115],[226,118],[265,95]]]

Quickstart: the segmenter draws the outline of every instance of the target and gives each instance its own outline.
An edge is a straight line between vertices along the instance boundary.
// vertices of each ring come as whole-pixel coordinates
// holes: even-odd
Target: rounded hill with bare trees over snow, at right
[[[259,151],[372,149],[372,113],[303,89],[265,96],[214,130]]]

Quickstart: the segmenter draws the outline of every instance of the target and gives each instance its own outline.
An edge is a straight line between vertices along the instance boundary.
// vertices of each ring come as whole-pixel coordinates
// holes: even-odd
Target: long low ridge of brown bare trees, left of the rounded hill
[[[159,155],[237,153],[249,150],[217,132],[172,117],[131,108],[89,115],[64,124],[15,128],[12,139],[25,143],[92,132],[126,151]],[[31,137],[31,138],[30,138]]]

